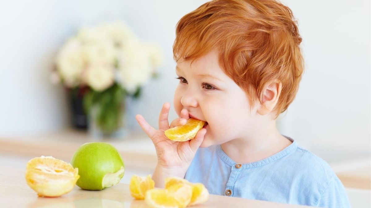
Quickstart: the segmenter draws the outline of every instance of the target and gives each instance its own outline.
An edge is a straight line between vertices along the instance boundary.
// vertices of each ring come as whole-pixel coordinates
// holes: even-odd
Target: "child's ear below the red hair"
[[[279,80],[275,80],[273,82],[269,82],[262,94],[262,103],[259,105],[257,112],[264,116],[272,112],[273,108],[275,108],[279,95],[281,94],[282,90],[282,83]]]

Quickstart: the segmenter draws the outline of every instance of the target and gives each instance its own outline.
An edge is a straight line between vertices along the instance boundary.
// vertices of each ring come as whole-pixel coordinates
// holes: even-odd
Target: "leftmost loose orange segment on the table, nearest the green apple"
[[[155,182],[152,180],[151,175],[147,177],[134,175],[129,183],[130,193],[135,199],[144,199],[145,193],[154,187]]]

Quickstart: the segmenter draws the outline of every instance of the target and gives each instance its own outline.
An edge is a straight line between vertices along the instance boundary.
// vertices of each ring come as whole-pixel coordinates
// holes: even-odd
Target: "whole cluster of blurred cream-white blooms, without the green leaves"
[[[60,49],[56,65],[67,87],[87,84],[103,91],[116,81],[133,93],[162,61],[158,45],[140,42],[124,23],[114,22],[79,30]]]

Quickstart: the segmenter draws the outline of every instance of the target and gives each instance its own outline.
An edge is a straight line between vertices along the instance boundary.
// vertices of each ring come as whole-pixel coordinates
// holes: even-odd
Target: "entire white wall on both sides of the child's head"
[[[173,103],[175,24],[205,0],[2,1],[0,136],[38,134],[68,125],[60,86],[49,82],[56,50],[82,25],[124,20],[165,55],[160,78],[131,106],[157,127]],[[283,134],[315,152],[328,147],[370,154],[370,1],[285,0],[299,20],[306,72],[296,100],[279,120]],[[172,110],[170,120],[176,116]],[[350,153],[349,153],[350,154]]]

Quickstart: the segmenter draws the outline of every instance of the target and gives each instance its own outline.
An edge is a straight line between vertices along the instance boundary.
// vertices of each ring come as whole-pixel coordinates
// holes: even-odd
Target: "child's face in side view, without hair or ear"
[[[190,117],[209,123],[201,147],[251,134],[256,111],[250,111],[246,93],[220,68],[217,51],[190,64],[191,61],[182,60],[177,63],[176,74],[181,78],[175,90],[174,108],[178,116],[187,109]]]

